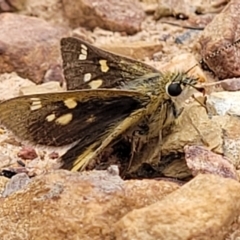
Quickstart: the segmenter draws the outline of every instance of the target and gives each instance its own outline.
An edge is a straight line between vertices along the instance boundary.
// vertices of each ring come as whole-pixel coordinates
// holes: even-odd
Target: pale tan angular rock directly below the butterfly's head
[[[206,109],[198,103],[189,103],[172,128],[171,134],[166,136],[162,154],[171,151],[183,152],[186,145],[197,144],[205,145],[217,153],[222,151],[222,126],[221,122],[226,123],[222,117],[209,118]]]

